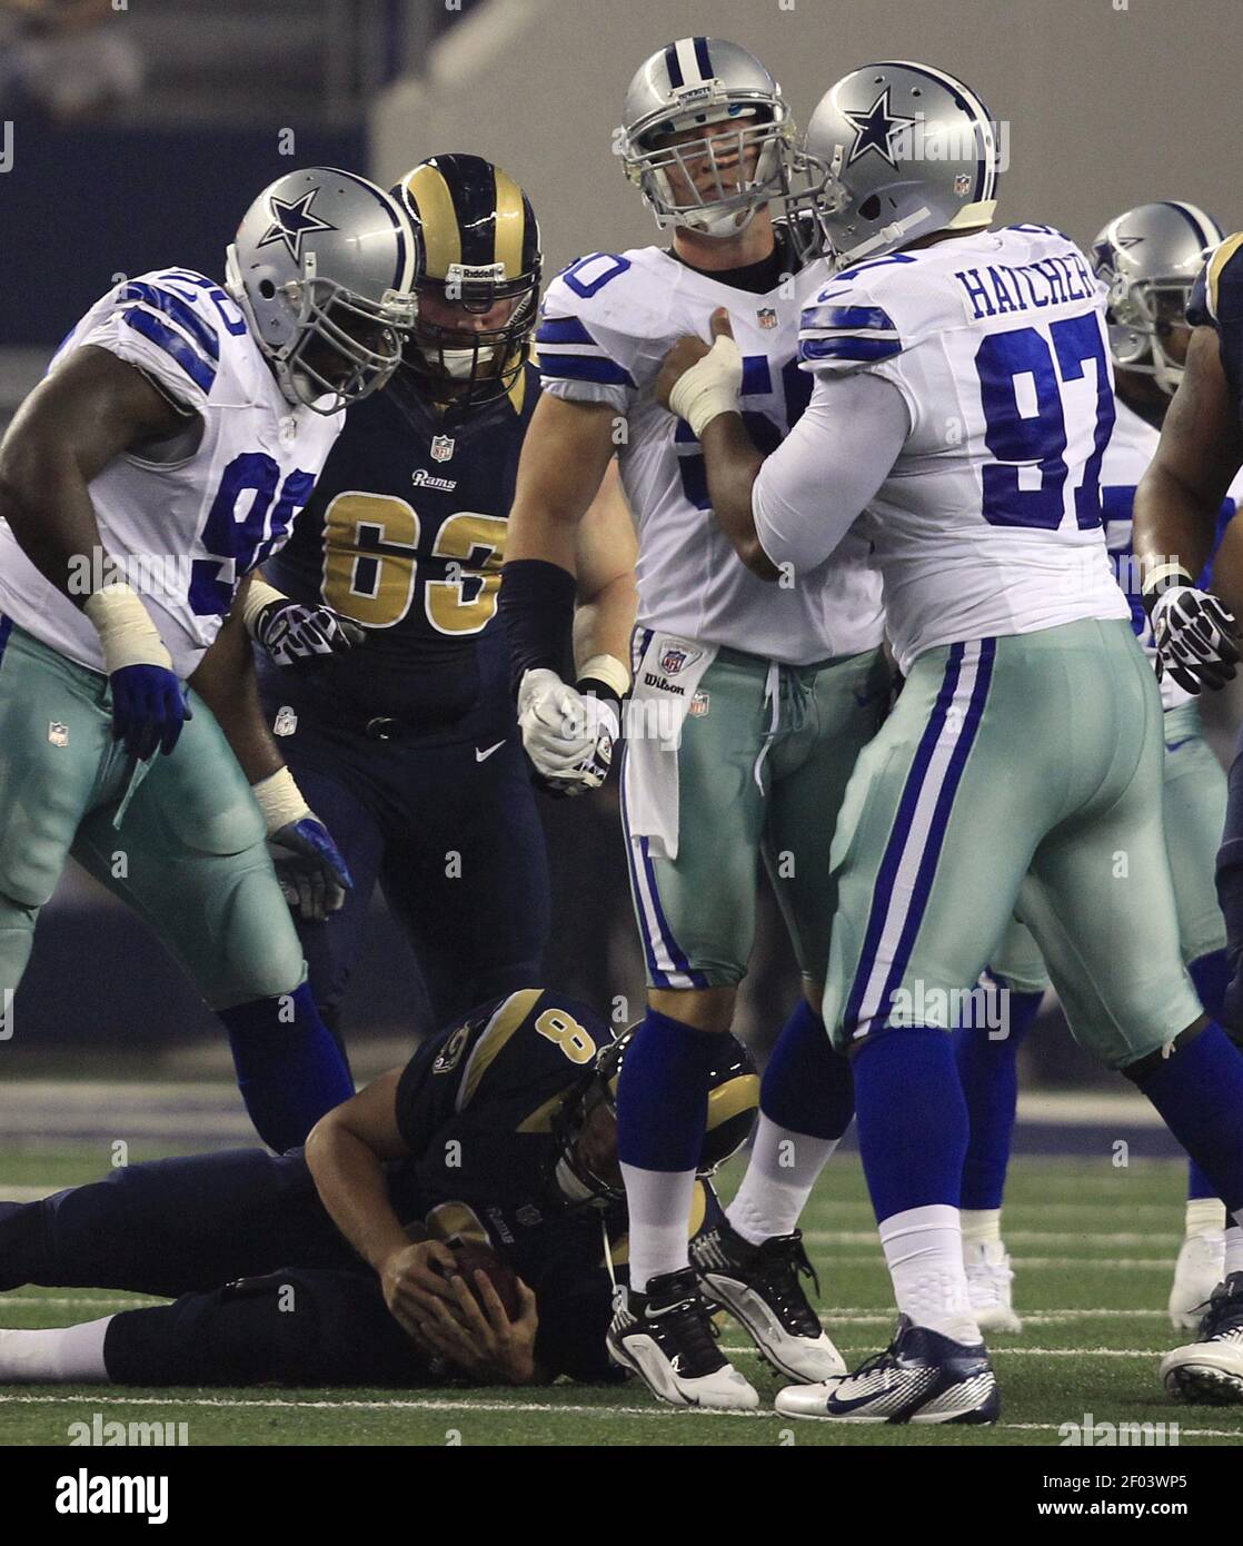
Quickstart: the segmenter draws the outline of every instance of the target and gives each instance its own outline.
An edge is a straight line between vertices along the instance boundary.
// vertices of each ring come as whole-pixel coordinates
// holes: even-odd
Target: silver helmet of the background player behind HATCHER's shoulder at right
[[[1192,284],[1224,232],[1195,204],[1139,204],[1118,215],[1091,244],[1091,266],[1108,284],[1108,349],[1119,369],[1153,376],[1173,396],[1183,366],[1164,349],[1186,328]]]

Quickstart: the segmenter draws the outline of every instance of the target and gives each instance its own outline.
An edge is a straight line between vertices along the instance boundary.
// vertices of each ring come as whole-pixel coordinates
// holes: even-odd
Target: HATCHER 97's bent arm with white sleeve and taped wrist
[[[716,342],[680,339],[657,396],[685,417],[703,447],[713,513],[761,578],[807,574],[846,536],[894,468],[909,433],[906,402],[866,371],[818,373],[807,411],[762,458],[737,410],[742,379],[728,315],[713,315]]]

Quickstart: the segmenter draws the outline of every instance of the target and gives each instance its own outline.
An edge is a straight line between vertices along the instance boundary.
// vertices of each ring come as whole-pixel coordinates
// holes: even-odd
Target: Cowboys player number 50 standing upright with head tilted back
[[[648,1013],[626,1059],[618,1150],[631,1218],[631,1294],[614,1357],[666,1401],[734,1402],[754,1390],[703,1336],[705,1297],[683,1228],[703,1091],[747,971],[759,866],[795,943],[805,999],[768,1064],[748,1183],[710,1246],[710,1292],[795,1379],[844,1368],[802,1291],[807,1262],[790,1178],[819,1172],[852,1115],[850,1074],[819,999],[833,915],[829,835],[889,694],[878,580],[847,540],[819,587],[765,587],[711,518],[694,433],[656,400],[682,332],[707,337],[727,306],[745,354],[742,405],[773,448],[799,422],[793,124],[764,65],[736,43],[683,37],[634,76],[623,165],[668,247],[597,252],[549,289],[538,332],[544,396],[518,470],[501,606],[527,750],[567,787],[595,779],[631,669],[561,663],[575,594],[575,532],[617,448],[639,527],[639,628],[622,810],[643,942]],[[784,212],[773,218],[773,204]],[[564,717],[560,742],[547,727]]]

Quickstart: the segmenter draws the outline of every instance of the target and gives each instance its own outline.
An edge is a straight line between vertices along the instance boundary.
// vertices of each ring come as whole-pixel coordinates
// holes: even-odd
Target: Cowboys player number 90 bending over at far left
[[[0,1008],[73,852],[220,1014],[275,1149],[352,1085],[264,839],[329,906],[348,872],[263,725],[240,614],[342,410],[393,374],[413,277],[388,195],[291,172],[243,216],[224,289],[122,280],[0,448]]]

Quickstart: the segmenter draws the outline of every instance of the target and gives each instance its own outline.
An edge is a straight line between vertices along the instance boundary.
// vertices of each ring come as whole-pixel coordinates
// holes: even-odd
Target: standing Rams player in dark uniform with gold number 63
[[[300,925],[334,1031],[377,881],[436,1023],[538,980],[549,928],[544,836],[493,626],[540,399],[540,227],[479,156],[433,156],[393,196],[419,237],[414,329],[388,390],[346,414],[249,603],[269,724],[354,880],[331,920]],[[615,487],[581,536],[580,643],[625,652],[634,538]]]

